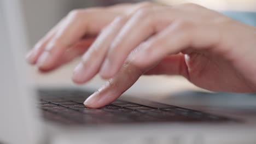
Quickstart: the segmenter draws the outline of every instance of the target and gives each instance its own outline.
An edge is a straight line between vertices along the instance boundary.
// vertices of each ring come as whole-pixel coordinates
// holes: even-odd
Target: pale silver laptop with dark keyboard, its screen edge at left
[[[34,87],[20,1],[0,1],[0,21],[0,143],[256,143],[249,117],[135,97],[89,109],[88,90]]]

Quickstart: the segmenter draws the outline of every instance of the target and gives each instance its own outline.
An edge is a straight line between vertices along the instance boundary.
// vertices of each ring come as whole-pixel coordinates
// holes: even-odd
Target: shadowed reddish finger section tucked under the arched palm
[[[156,67],[148,70],[145,75],[182,75],[189,78],[188,67],[185,63],[185,55],[179,53],[178,55],[167,56],[161,60]]]

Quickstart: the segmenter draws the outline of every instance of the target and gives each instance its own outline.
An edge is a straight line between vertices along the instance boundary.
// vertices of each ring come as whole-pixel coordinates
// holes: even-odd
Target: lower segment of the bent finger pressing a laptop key
[[[113,79],[110,79],[106,85],[86,99],[84,105],[86,107],[98,108],[112,103],[130,88],[142,74],[143,71],[132,64],[125,64]]]

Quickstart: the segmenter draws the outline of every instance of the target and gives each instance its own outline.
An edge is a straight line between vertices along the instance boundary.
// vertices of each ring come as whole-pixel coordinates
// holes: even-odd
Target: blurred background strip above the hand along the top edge
[[[139,0],[22,0],[31,45],[35,44],[69,11],[117,3],[134,3]],[[215,10],[256,11],[255,0],[152,0],[164,4],[196,3]]]

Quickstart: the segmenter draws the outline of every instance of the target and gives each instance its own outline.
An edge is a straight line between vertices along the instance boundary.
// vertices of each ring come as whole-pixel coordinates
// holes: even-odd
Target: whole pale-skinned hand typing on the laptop
[[[195,4],[119,4],[73,10],[27,54],[40,71],[82,56],[72,80],[109,79],[97,108],[143,75],[182,75],[211,91],[256,92],[256,28]]]

